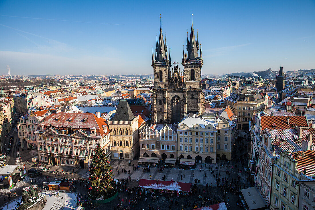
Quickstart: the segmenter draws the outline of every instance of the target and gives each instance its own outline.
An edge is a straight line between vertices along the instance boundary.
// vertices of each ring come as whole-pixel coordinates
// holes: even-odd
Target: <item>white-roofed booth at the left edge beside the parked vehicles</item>
[[[24,165],[6,165],[0,167],[0,189],[12,188],[26,173]]]

